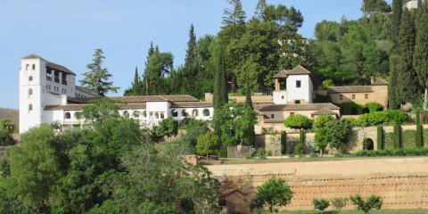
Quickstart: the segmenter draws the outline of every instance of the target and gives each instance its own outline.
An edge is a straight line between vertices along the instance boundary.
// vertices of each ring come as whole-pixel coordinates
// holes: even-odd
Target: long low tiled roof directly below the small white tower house
[[[302,103],[302,104],[276,104],[276,105],[255,105],[258,111],[317,111],[321,109],[340,110],[341,108],[333,103]]]

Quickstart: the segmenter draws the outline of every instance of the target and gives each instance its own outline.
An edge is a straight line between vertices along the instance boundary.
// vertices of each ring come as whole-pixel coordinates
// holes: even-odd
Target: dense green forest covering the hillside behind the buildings
[[[252,92],[269,95],[276,72],[300,64],[313,72],[316,86],[368,85],[374,76],[391,82],[391,108],[402,103],[422,106],[428,86],[422,69],[428,63],[428,9],[419,1],[417,9],[403,10],[406,2],[364,0],[360,19],[344,15],[340,22],[320,21],[314,38],[307,39],[298,34],[304,17],[297,8],[259,0],[254,16],[247,17],[241,1],[231,0],[217,35],[196,37],[190,26],[185,64],[175,68],[173,55],[151,44],[144,70],[136,68],[125,95],[187,94],[203,99],[214,90],[223,54],[230,93],[243,95],[249,78]]]

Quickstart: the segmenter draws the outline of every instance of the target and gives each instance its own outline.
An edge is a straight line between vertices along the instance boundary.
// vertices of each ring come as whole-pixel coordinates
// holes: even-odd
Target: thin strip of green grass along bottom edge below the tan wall
[[[263,212],[269,213],[269,212]],[[319,214],[320,211],[280,211],[278,213],[287,213],[287,214]],[[325,214],[364,214],[361,210],[330,210],[325,211]],[[370,210],[369,214],[426,214],[428,210]]]

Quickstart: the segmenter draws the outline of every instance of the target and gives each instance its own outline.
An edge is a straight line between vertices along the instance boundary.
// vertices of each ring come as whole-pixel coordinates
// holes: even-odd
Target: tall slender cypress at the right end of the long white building
[[[218,56],[218,70],[216,72],[216,77],[214,80],[214,93],[212,103],[214,104],[214,118],[213,118],[213,127],[214,131],[218,136],[220,136],[220,122],[216,117],[216,112],[220,111],[223,105],[225,105],[228,101],[227,95],[227,85],[226,85],[226,66],[225,66],[225,55],[224,51],[219,51]]]

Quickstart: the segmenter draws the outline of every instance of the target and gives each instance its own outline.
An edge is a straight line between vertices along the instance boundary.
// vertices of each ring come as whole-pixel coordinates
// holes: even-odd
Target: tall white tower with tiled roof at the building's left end
[[[48,62],[37,54],[21,58],[20,70],[20,133],[41,123],[51,123],[45,105],[67,103],[67,96],[76,93],[71,70]]]

